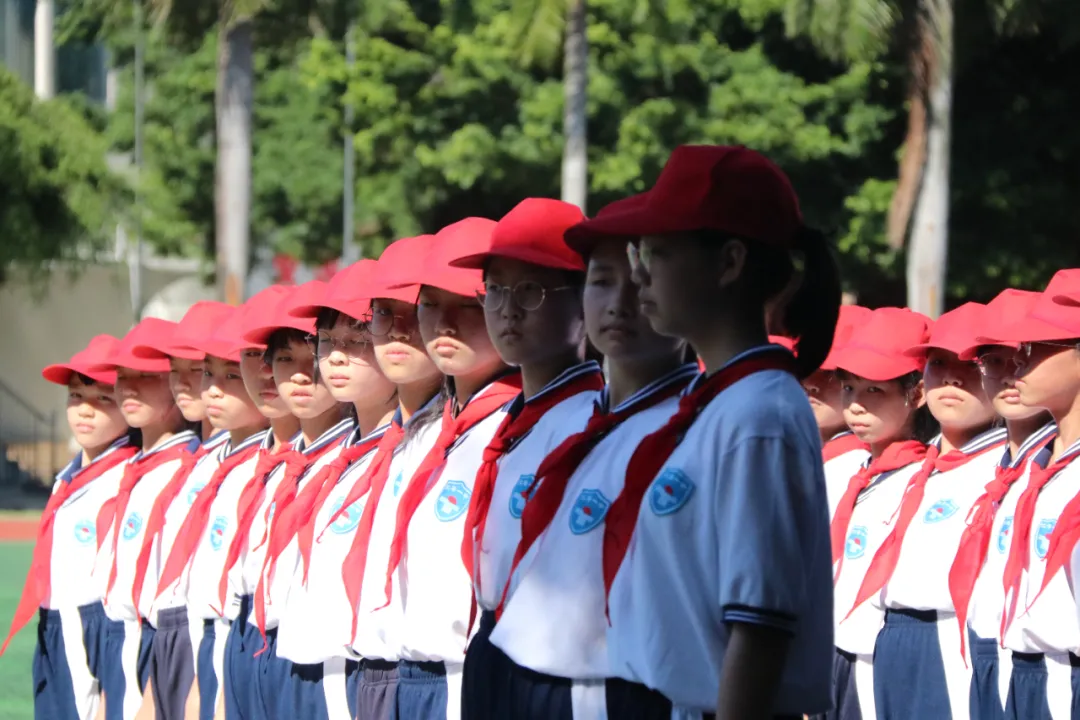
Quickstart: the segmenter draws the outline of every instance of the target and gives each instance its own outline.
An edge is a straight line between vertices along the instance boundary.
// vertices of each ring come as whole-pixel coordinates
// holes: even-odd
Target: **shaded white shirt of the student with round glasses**
[[[519,395],[511,403],[509,412],[516,415],[525,404],[535,403],[591,372],[599,372],[599,365],[592,361],[576,365],[528,400]],[[476,574],[473,592],[481,609],[495,610],[502,598],[514,552],[522,539],[522,513],[526,502],[522,493],[532,485],[544,458],[567,437],[584,430],[597,397],[598,391],[584,391],[550,408],[532,430],[499,459],[483,544],[477,548],[473,566]]]

